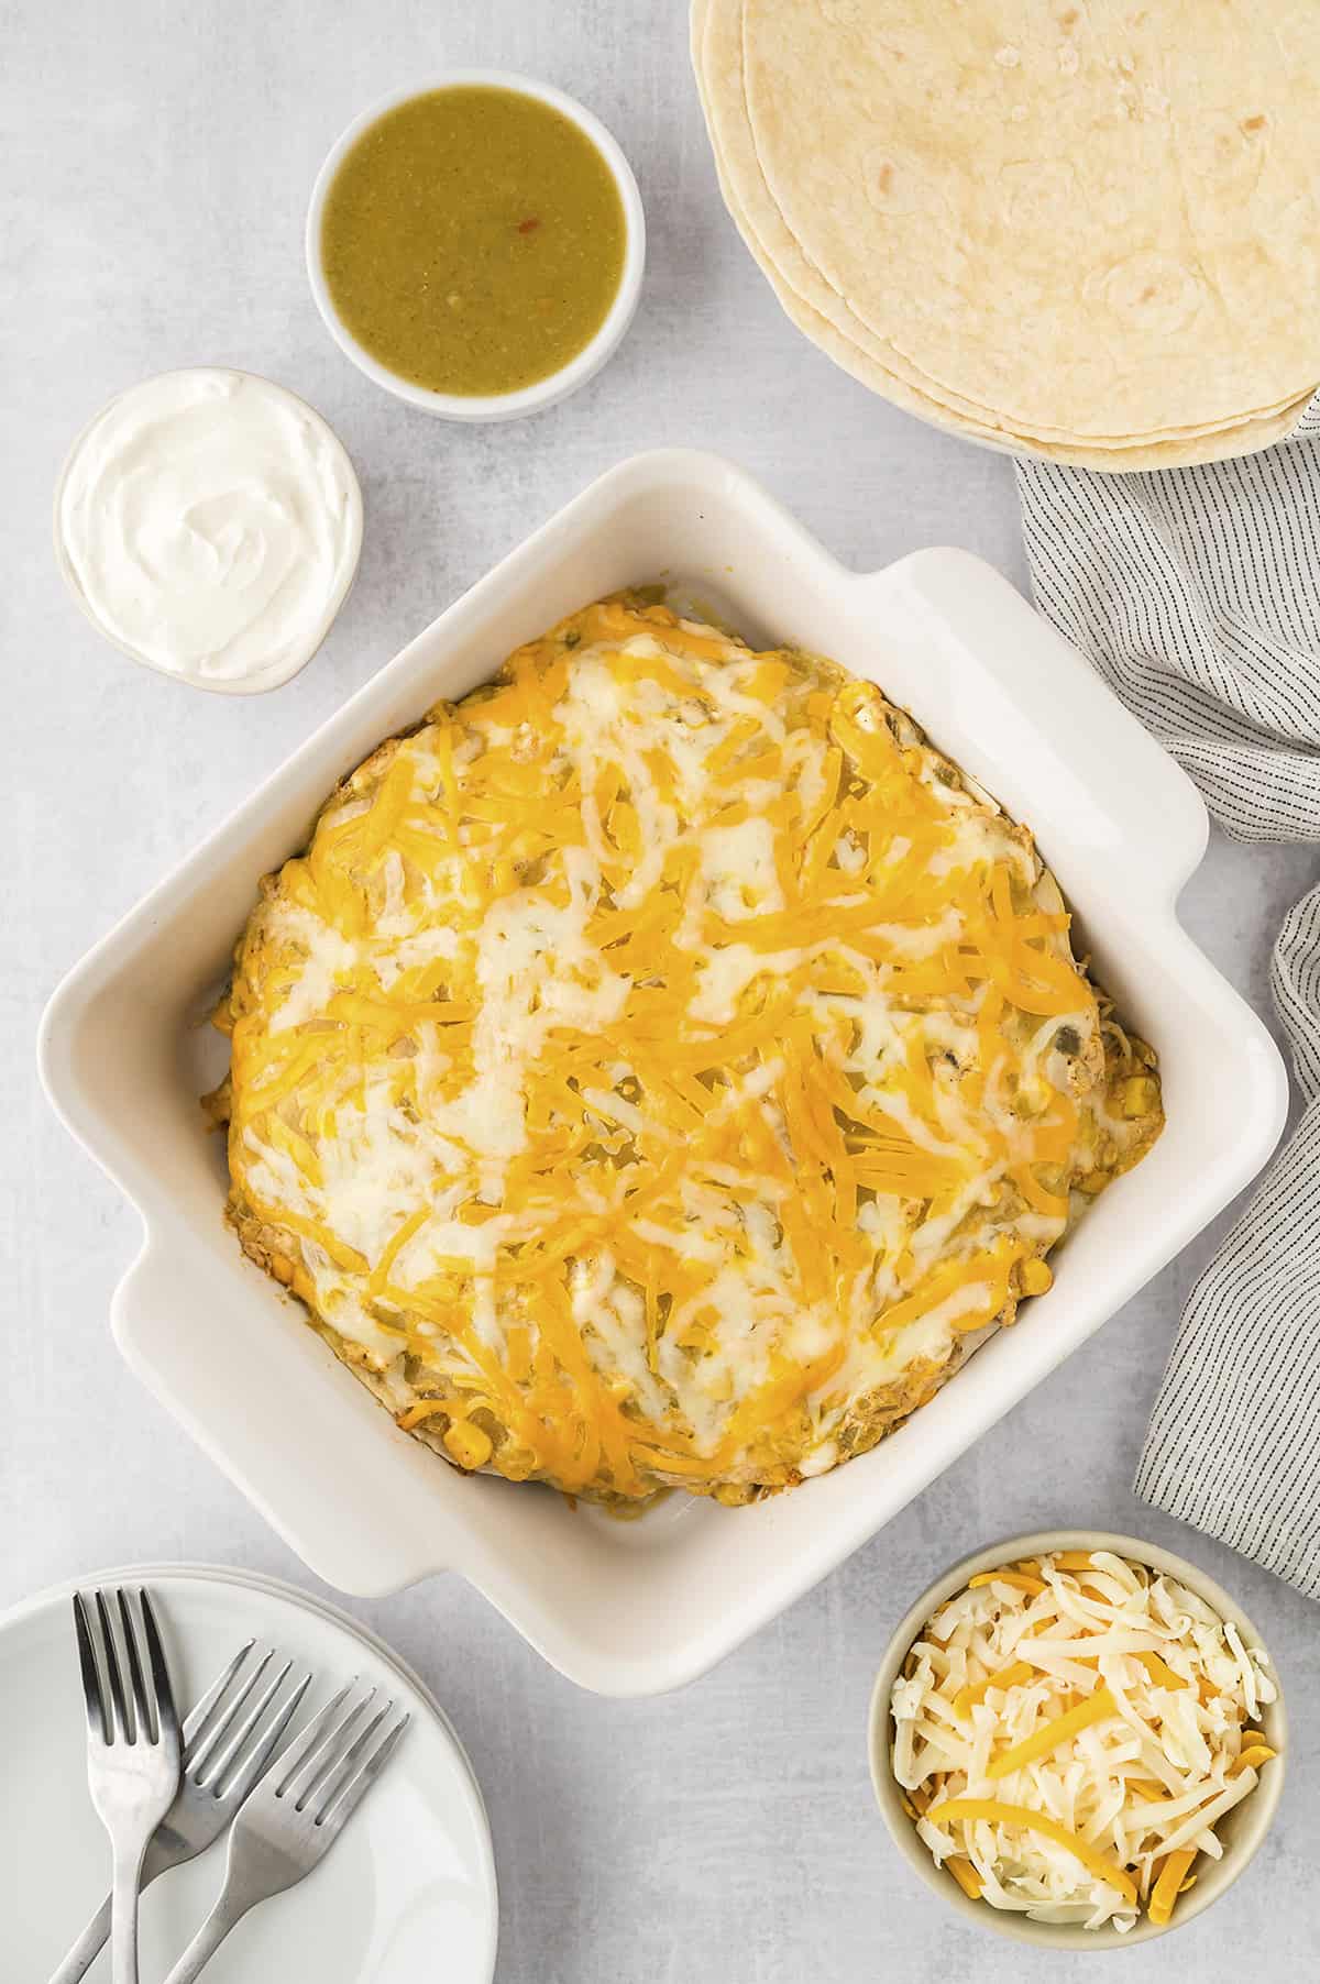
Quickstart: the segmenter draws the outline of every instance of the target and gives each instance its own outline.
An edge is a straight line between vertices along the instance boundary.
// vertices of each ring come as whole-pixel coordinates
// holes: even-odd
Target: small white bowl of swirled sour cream
[[[75,442],[56,548],[79,605],[135,661],[197,688],[274,688],[312,659],[357,569],[343,446],[254,373],[129,387]]]

